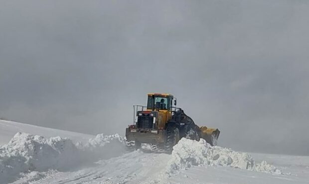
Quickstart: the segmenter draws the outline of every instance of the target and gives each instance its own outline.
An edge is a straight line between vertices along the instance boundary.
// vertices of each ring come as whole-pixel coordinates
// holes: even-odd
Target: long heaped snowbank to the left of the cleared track
[[[66,170],[86,161],[121,155],[125,139],[118,134],[97,135],[88,143],[73,144],[68,138],[16,133],[8,144],[0,147],[0,184],[14,181],[21,172]]]

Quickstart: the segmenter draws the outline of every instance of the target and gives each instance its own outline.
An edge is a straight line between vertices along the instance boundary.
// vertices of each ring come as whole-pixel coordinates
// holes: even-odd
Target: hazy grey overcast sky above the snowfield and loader
[[[309,1],[1,0],[1,117],[124,135],[148,92],[221,146],[309,155]]]

